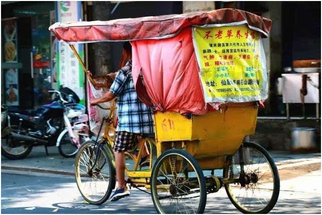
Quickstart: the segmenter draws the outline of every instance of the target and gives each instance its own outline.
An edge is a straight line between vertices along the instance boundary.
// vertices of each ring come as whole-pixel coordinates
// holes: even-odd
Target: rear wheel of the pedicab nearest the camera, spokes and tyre
[[[168,149],[155,161],[151,196],[158,213],[203,213],[206,184],[197,161],[182,149]]]

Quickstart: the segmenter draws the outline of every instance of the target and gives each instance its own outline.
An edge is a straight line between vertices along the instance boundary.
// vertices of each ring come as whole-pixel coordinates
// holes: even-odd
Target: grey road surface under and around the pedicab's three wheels
[[[106,201],[102,205],[84,202],[78,192],[74,178],[68,175],[39,172],[2,170],[1,213],[156,213],[151,196],[137,189],[131,195],[117,202]],[[320,172],[298,178],[305,183],[320,183]],[[299,180],[284,181],[287,185],[298,184]],[[321,212],[320,187],[305,191],[282,190],[278,201],[270,213],[317,213]],[[317,188],[317,187],[315,187]],[[207,195],[204,213],[240,213],[229,201],[225,190]]]

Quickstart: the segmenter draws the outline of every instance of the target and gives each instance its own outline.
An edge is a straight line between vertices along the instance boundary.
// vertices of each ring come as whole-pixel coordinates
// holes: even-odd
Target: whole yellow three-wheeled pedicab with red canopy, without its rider
[[[262,146],[244,138],[254,134],[258,105],[267,97],[261,39],[270,27],[271,20],[258,15],[218,9],[55,23],[49,30],[69,44],[96,86],[75,45],[131,42],[133,82],[154,110],[155,138],[143,136],[137,156],[128,153],[127,182],[150,193],[158,213],[202,213],[207,194],[222,186],[241,212],[267,213],[278,198],[278,171]],[[108,109],[102,140],[83,143],[75,160],[78,189],[92,204],[105,202],[115,188],[115,107]],[[151,162],[140,169],[144,143]]]

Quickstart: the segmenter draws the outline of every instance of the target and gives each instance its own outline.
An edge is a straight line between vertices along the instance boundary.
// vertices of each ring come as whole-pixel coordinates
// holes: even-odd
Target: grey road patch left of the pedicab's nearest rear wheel
[[[131,189],[117,202],[92,205],[74,178],[1,174],[2,213],[156,213],[149,194]]]

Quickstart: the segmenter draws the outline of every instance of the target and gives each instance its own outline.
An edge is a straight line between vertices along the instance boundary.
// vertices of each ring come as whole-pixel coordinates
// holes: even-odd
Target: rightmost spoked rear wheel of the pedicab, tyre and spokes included
[[[243,154],[244,173],[238,158],[231,159],[232,166],[228,165],[223,169],[223,178],[239,177],[239,183],[225,184],[226,193],[232,204],[243,213],[268,213],[274,207],[279,194],[277,167],[269,153],[259,144],[242,144],[236,153]]]

